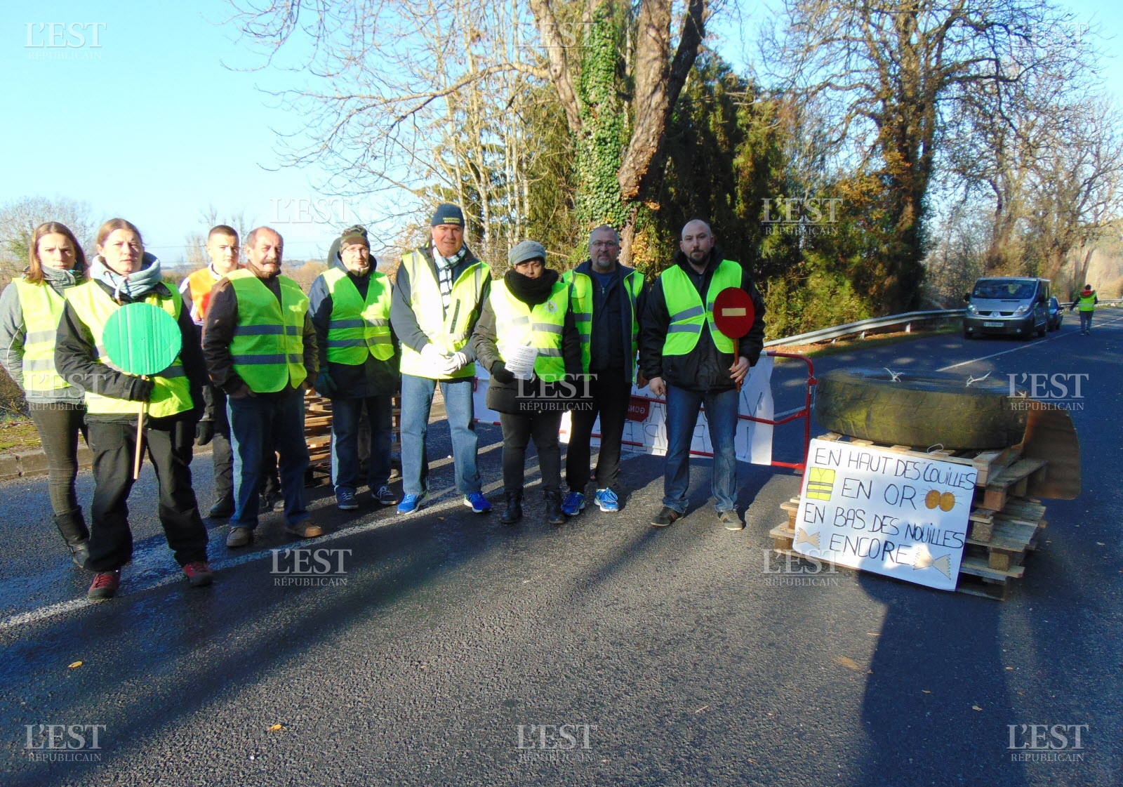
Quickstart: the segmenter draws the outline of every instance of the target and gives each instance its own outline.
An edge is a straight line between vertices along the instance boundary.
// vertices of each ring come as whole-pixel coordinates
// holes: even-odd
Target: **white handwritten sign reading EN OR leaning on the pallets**
[[[955,591],[977,477],[970,465],[812,440],[794,549]]]

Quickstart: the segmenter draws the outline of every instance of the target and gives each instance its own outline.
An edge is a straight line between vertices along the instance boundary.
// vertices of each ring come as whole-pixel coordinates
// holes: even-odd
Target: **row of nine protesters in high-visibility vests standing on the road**
[[[463,211],[449,203],[437,207],[430,240],[402,257],[393,280],[376,269],[366,229],[351,227],[305,294],[281,273],[283,242],[270,227],[240,239],[217,226],[207,239],[210,264],[177,292],[124,219],[101,226],[89,262],[65,226],[35,229],[27,269],[0,296],[0,363],[24,390],[39,432],[54,523],[74,562],[94,573],[91,601],[116,595],[131,559],[127,500],[138,450],[156,472],[159,521],[194,586],[213,578],[192,487],[194,446],[212,446],[209,519],[229,520],[228,548],[250,545],[259,512],[274,505],[283,506],[289,534],[321,536],[304,495],[310,388],[331,401],[331,482],[344,511],[359,507],[364,481],[375,505],[396,505],[403,515],[426,505],[438,383],[456,489],[473,512],[491,511],[476,463],[473,394],[482,370],[486,404],[503,429],[503,524],[522,519],[530,440],[550,524],[581,514],[591,482],[601,511],[620,510],[621,442],[636,385],[666,397],[665,494],[650,523],[666,527],[686,513],[690,448],[704,406],[718,519],[729,530],[745,527],[736,511],[733,437],[738,388],[763,348],[764,301],[749,272],[723,258],[706,222],[686,223],[674,260],[650,286],[620,263],[620,236],[606,225],[592,231],[588,258],[572,271],[550,267],[542,244],[523,240],[510,250],[506,273],[493,278],[465,244]],[[755,308],[740,339],[714,323],[714,300],[728,287],[747,292]],[[103,340],[110,318],[130,303],[162,309],[179,329],[175,359],[155,375],[118,367]],[[390,485],[395,395],[401,494]],[[558,438],[566,411],[563,496]],[[89,527],[75,494],[79,434],[93,455]],[[368,455],[365,478],[360,454]]]

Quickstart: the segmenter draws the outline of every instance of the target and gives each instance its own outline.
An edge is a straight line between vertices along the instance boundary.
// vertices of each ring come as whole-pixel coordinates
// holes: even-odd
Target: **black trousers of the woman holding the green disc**
[[[120,568],[133,557],[129,506],[136,422],[86,420],[93,449],[93,505],[90,522],[90,559],[94,571]],[[199,516],[191,488],[191,446],[195,422],[188,418],[149,418],[145,421],[148,459],[159,482],[159,523],[167,546],[181,566],[207,559],[207,528]]]

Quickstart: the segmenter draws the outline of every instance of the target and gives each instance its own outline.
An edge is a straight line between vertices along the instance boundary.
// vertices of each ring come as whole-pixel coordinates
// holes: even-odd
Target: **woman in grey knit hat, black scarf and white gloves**
[[[569,309],[569,285],[546,267],[546,248],[523,240],[508,255],[511,269],[493,282],[472,340],[476,359],[491,373],[487,406],[503,427],[503,492],[500,521],[522,519],[527,443],[538,450],[546,518],[562,513],[562,413],[583,386],[581,337]],[[510,366],[510,368],[508,368]]]

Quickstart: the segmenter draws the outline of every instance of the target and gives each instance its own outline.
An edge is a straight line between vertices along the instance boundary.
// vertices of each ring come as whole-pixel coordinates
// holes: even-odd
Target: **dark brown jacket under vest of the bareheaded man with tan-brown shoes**
[[[270,289],[277,302],[281,301],[281,282],[273,278],[261,280],[262,284]],[[203,358],[207,362],[207,370],[210,373],[211,382],[222,388],[227,395],[240,395],[248,391],[246,381],[234,370],[234,362],[230,357],[230,344],[234,341],[234,329],[238,327],[238,296],[234,291],[234,285],[229,278],[221,278],[211,290],[210,305],[207,308],[207,322],[203,323]],[[304,314],[304,370],[308,385],[316,382],[316,374],[319,370],[319,354],[316,349],[316,328],[311,318]],[[273,393],[258,393],[258,396],[271,399],[285,399],[298,392],[302,386],[289,385]]]

